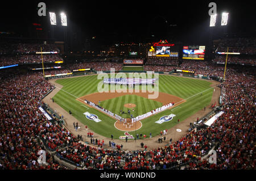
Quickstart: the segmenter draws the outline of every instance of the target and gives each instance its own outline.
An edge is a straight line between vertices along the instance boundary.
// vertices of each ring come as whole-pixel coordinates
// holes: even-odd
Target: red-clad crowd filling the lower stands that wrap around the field
[[[49,165],[36,162],[36,153],[43,149],[38,138],[47,149],[57,151],[61,159],[85,169],[255,168],[253,75],[230,70],[227,80],[221,84],[224,114],[212,127],[192,131],[163,148],[142,151],[84,145],[66,128],[46,120],[38,107],[42,104],[42,96],[53,86],[42,78],[42,74],[1,76],[0,81],[2,169],[65,168],[56,166],[49,154]],[[209,163],[205,157],[212,148],[217,150],[217,164]]]

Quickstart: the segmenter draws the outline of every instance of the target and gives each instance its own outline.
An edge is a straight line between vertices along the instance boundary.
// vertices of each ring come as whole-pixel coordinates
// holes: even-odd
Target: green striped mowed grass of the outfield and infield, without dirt
[[[110,135],[113,134],[114,138],[118,138],[123,135],[123,132],[115,129],[114,119],[94,108],[86,108],[84,107],[84,104],[76,100],[77,97],[97,92],[97,85],[100,81],[101,80],[97,80],[97,75],[59,79],[56,82],[63,85],[63,91],[60,90],[53,98],[55,99],[55,102],[66,111],[71,110],[72,115],[76,117],[76,119],[80,120],[81,123],[88,125],[94,132],[106,137],[110,137]],[[187,102],[180,104],[177,108],[160,112],[142,120],[143,126],[137,133],[146,134],[146,136],[149,136],[150,133],[152,133],[152,136],[156,136],[160,131],[163,131],[163,129],[169,129],[176,125],[177,119],[183,121],[197,111],[203,109],[205,106],[208,106],[213,94],[213,89],[210,88],[210,84],[210,82],[202,79],[159,75],[160,92],[179,96],[180,98],[186,99]],[[203,92],[203,95],[201,95],[200,92]],[[148,102],[150,102],[150,104],[148,104]],[[138,115],[141,115],[142,112],[146,110],[153,110],[156,107],[160,107],[160,104],[154,100],[148,100],[140,96],[132,95],[119,96],[118,98],[114,98],[110,103],[102,101],[101,106],[105,108],[109,107],[113,111],[119,113],[120,108],[125,103],[139,105],[141,108],[137,110]],[[86,119],[83,115],[86,111],[96,114],[102,121],[100,123],[95,123],[92,120]],[[170,115],[171,113],[176,115],[171,121],[163,124],[155,123],[160,117]],[[191,120],[191,122],[193,121],[195,120]],[[135,135],[135,131],[130,133]]]

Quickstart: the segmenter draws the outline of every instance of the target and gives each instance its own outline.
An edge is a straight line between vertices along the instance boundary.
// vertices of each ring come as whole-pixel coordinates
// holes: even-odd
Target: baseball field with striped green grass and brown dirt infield
[[[148,99],[148,92],[134,92],[132,94],[129,92],[100,93],[97,90],[100,81],[102,80],[98,80],[97,75],[58,79],[56,83],[63,85],[63,87],[53,99],[65,111],[70,110],[72,115],[82,124],[88,125],[92,131],[105,137],[110,137],[113,134],[114,138],[119,138],[123,135],[125,129],[118,129],[117,124],[115,124],[118,123],[118,120],[85,104],[84,99],[99,104],[101,107],[124,118],[129,118],[130,114],[133,114],[134,117],[142,115],[167,103],[175,102],[174,107],[136,123],[139,125],[139,128],[135,125],[136,133],[146,134],[147,137],[151,133],[154,137],[160,131],[174,127],[178,124],[178,119],[183,121],[208,106],[213,95],[213,89],[210,87],[211,82],[170,75],[159,75],[159,97],[157,99]],[[58,89],[58,87],[56,88]],[[124,113],[120,112],[121,110]],[[128,110],[130,110],[130,114],[128,114]],[[88,119],[84,115],[85,112],[96,115],[101,121],[96,122]],[[175,116],[170,121],[162,124],[155,123],[161,117],[171,114]],[[127,125],[120,125],[127,128]],[[135,136],[135,131],[129,131],[129,133]]]

